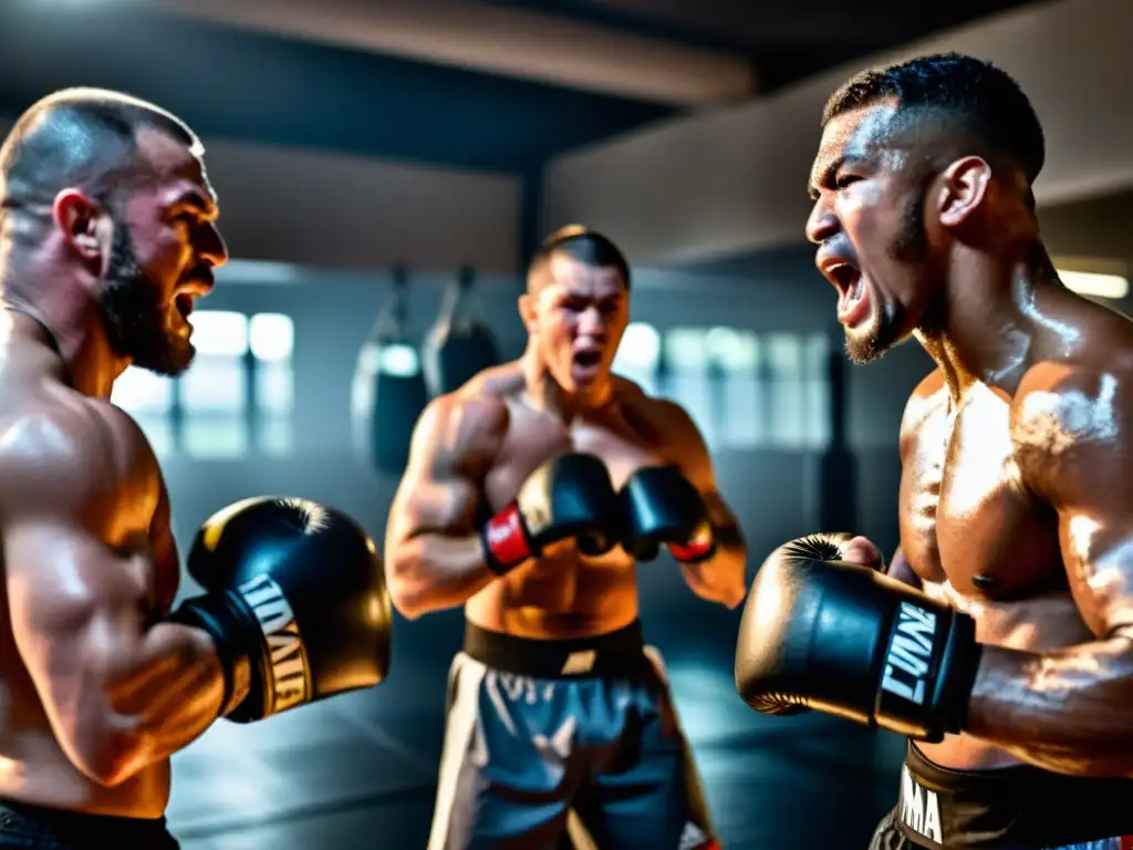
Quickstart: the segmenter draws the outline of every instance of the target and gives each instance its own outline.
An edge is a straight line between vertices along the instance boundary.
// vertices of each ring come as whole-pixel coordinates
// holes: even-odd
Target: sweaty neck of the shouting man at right
[[[977,382],[1014,391],[1038,331],[1036,294],[1050,286],[1057,278],[1038,243],[1011,254],[965,250],[953,258],[936,321],[914,333],[953,398]]]

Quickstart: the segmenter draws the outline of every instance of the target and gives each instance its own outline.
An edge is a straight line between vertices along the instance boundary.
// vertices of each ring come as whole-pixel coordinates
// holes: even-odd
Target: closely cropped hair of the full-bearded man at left
[[[148,128],[195,153],[201,141],[152,103],[101,88],[65,88],[34,103],[0,146],[0,211],[50,203],[74,186],[104,203],[142,177],[137,135]]]

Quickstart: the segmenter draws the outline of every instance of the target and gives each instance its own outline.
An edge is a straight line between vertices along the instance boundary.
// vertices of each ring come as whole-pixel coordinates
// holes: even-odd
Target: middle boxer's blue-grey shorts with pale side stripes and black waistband
[[[469,624],[428,850],[718,848],[640,624],[529,640]]]

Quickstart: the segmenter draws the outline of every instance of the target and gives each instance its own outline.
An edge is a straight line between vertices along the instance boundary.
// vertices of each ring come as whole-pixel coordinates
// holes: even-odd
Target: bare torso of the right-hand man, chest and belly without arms
[[[971,614],[982,644],[1046,652],[1093,635],[1071,596],[1054,510],[1022,483],[1011,399],[977,383],[953,402],[939,373],[902,426],[901,547],[926,593]],[[968,734],[918,747],[959,770],[1020,764]]]

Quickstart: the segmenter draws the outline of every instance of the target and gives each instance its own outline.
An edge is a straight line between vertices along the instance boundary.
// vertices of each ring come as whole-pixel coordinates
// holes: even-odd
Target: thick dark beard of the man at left
[[[165,326],[168,306],[161,287],[142,271],[125,227],[114,228],[110,264],[96,298],[110,347],[134,366],[176,376],[193,363],[196,350]]]

